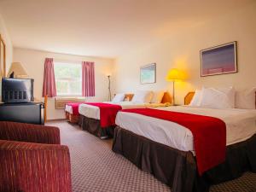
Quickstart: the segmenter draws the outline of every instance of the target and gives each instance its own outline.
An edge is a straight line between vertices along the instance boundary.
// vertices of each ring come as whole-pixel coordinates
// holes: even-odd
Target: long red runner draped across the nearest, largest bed
[[[165,119],[188,128],[194,137],[196,162],[200,175],[225,160],[226,125],[221,119],[151,108],[124,109],[122,112]]]

